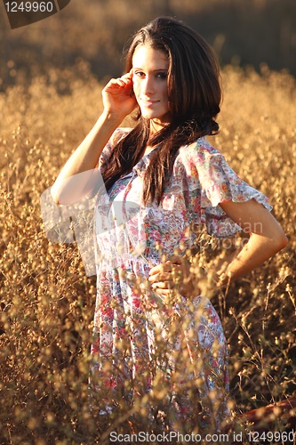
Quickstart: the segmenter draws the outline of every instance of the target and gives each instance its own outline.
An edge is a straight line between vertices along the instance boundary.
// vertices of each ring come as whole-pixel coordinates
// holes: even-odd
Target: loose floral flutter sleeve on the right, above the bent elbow
[[[204,138],[186,151],[189,207],[196,219],[193,223],[204,223],[208,233],[225,238],[242,229],[222,210],[220,202],[232,200],[239,203],[254,198],[268,211],[272,209],[268,198],[244,182],[228,166],[220,151]]]

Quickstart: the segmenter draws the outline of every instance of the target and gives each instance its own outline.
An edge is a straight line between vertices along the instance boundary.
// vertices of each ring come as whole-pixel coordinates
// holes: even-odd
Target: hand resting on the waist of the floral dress
[[[152,267],[148,281],[157,295],[170,295],[172,289],[178,290],[180,295],[185,297],[192,296],[194,292],[193,282],[190,279],[190,264],[186,258],[178,255]]]

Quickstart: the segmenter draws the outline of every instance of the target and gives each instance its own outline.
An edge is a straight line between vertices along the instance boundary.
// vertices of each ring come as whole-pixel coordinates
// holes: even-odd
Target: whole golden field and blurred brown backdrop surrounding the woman
[[[289,238],[284,252],[212,300],[228,338],[231,406],[237,417],[293,395],[296,4],[72,0],[13,31],[0,10],[0,443],[102,443],[110,425],[146,431],[145,401],[136,422],[124,409],[100,425],[90,416],[95,279],[75,244],[46,238],[40,196],[98,117],[124,41],[161,13],[186,20],[220,57],[220,134],[210,141],[268,195]],[[285,427],[277,419],[276,429]]]

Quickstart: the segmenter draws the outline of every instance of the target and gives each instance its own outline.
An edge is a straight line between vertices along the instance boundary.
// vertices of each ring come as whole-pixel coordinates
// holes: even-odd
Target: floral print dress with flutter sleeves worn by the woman
[[[117,129],[108,142],[100,156],[101,172],[114,141],[128,131]],[[242,181],[205,138],[180,147],[161,204],[143,206],[150,157],[151,152],[108,193],[99,193],[95,206],[97,301],[91,381],[102,394],[100,400],[109,405],[112,392],[132,401],[135,394],[149,392],[153,379],[163,375],[164,386],[171,382],[168,403],[175,418],[190,416],[188,393],[194,383],[202,422],[207,425],[207,419],[214,418],[219,428],[228,416],[228,347],[218,314],[206,295],[192,295],[189,302],[180,296],[178,302],[166,304],[145,283],[163,255],[169,258],[175,247],[193,245],[196,235],[188,231],[192,224],[205,224],[220,238],[241,230],[220,202],[255,198],[268,210],[271,207],[268,198]]]

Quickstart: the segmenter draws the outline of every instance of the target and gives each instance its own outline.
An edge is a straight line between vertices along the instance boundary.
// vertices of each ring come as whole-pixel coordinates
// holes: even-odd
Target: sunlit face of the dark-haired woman
[[[153,121],[155,131],[171,122],[167,93],[168,69],[168,57],[163,51],[149,44],[137,46],[132,56],[133,91],[142,117]]]

